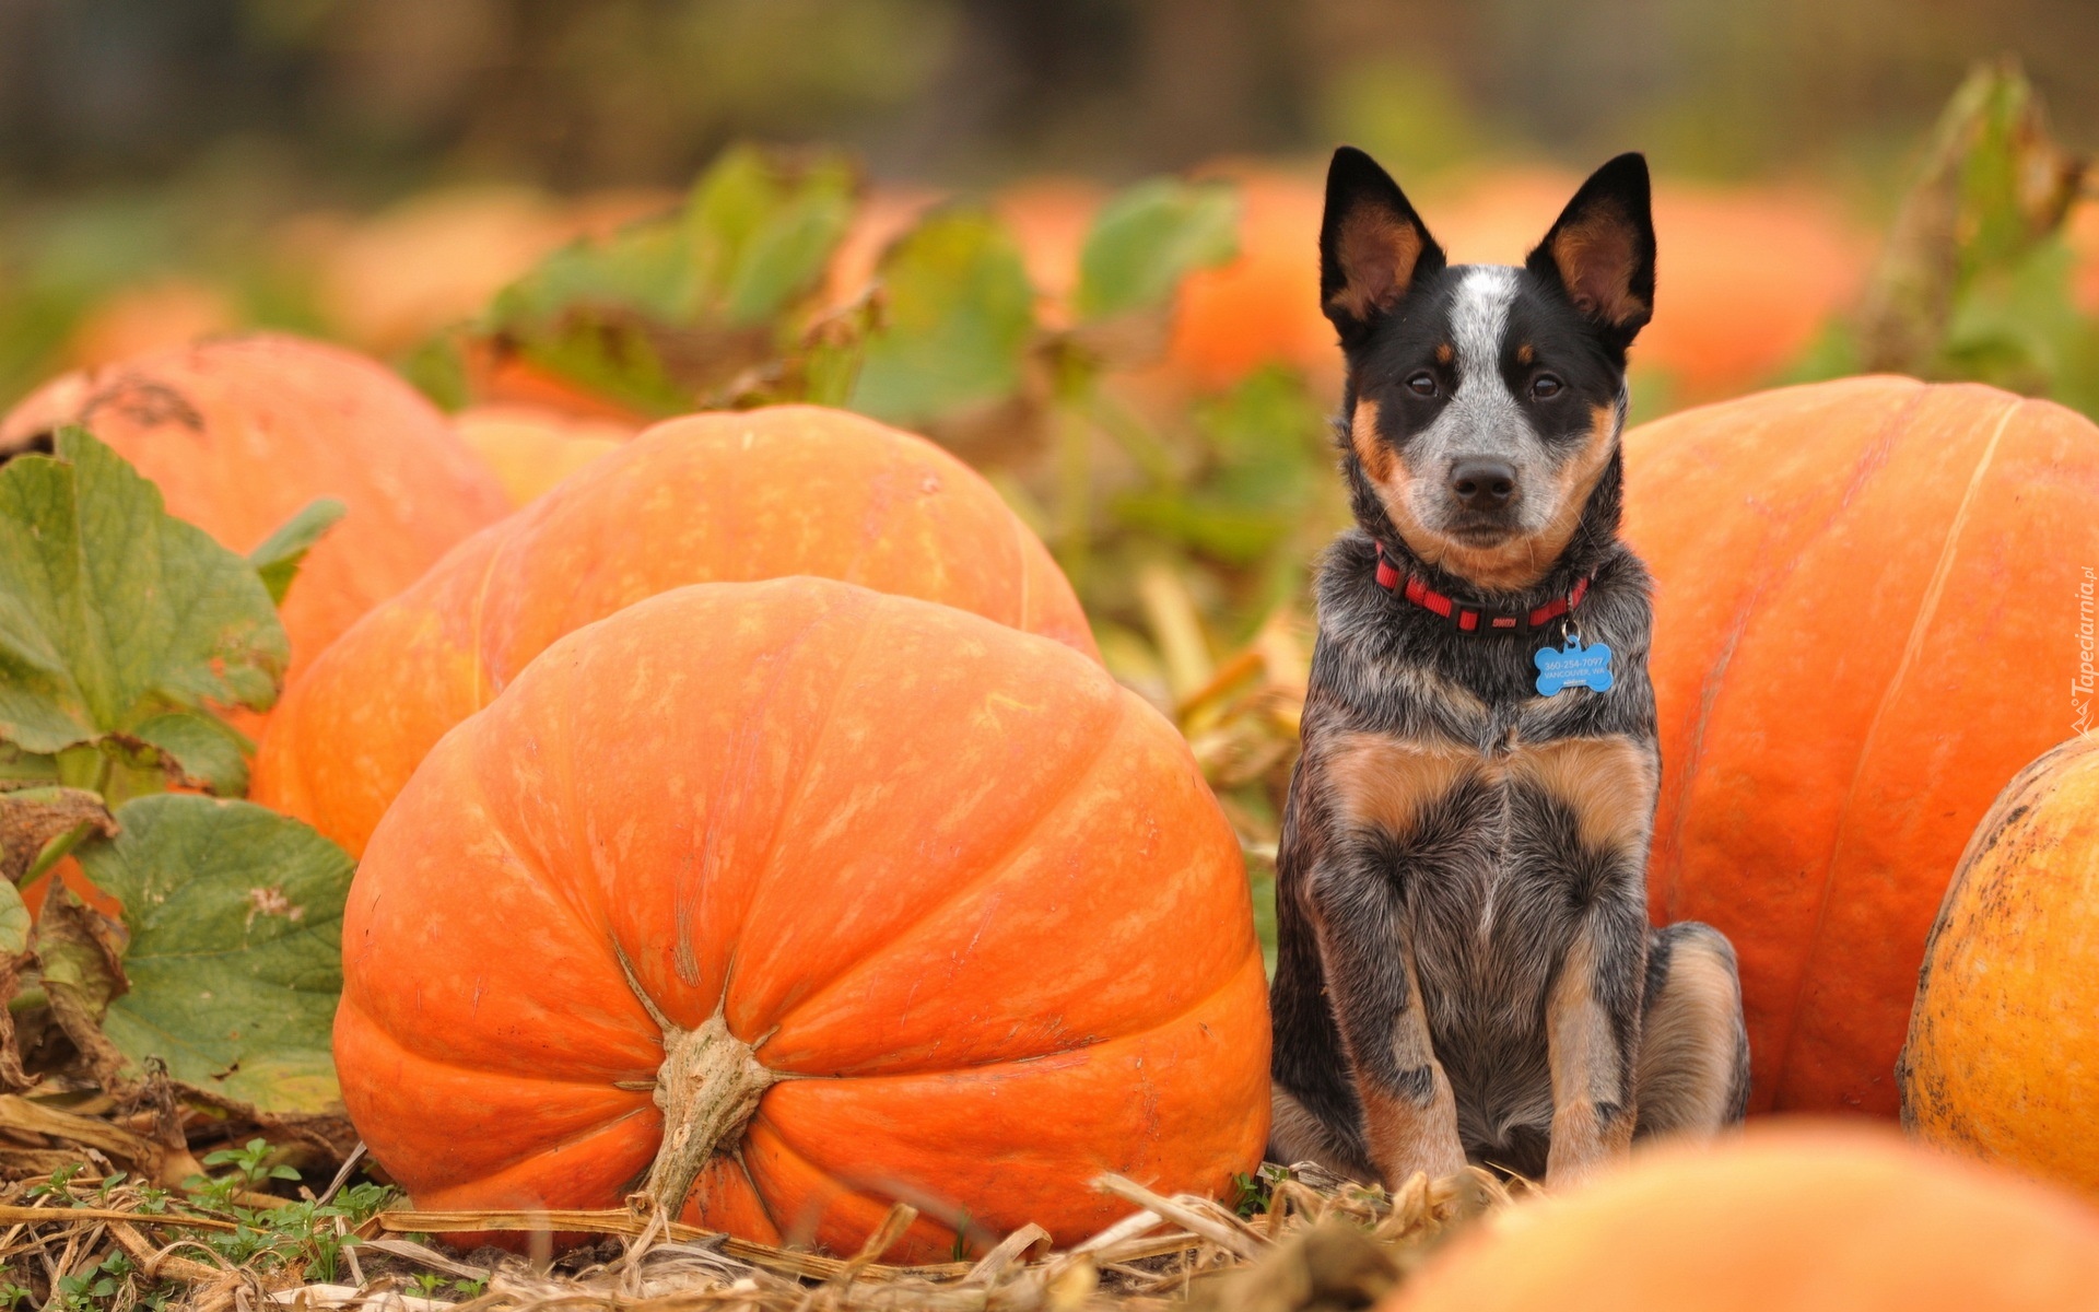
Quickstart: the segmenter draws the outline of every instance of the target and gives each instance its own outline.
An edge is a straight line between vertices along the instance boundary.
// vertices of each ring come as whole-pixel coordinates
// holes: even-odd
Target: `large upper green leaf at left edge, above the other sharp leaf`
[[[206,701],[262,710],[288,655],[254,567],[86,430],[0,468],[0,737],[59,752]]]

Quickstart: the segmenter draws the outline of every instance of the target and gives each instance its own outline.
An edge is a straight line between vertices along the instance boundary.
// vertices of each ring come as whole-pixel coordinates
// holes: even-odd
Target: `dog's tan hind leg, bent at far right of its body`
[[[1727,1123],[1742,985],[1713,943],[1679,938],[1639,1033],[1639,1138],[1709,1136]]]

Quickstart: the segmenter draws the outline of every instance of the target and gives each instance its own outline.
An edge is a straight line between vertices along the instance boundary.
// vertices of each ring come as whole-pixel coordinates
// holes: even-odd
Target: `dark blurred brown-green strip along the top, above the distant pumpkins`
[[[2084,0],[0,0],[0,170],[372,204],[680,185],[762,136],[940,183],[1337,139],[1874,176],[1994,52],[2099,130]]]

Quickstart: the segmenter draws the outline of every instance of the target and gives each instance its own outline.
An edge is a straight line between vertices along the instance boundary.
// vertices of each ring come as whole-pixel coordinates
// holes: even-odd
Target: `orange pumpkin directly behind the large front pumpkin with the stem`
[[[462,544],[344,634],[279,705],[254,796],[359,852],[430,745],[554,638],[682,584],[791,573],[1094,655],[1050,552],[940,447],[812,405],[688,416]]]

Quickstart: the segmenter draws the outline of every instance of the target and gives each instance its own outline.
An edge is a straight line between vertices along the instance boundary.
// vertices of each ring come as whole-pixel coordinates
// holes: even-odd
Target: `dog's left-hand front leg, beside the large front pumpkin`
[[[1463,1169],[1457,1100],[1429,1045],[1400,888],[1373,863],[1341,859],[1314,875],[1312,903],[1371,1163],[1387,1188],[1415,1171],[1440,1180]]]

